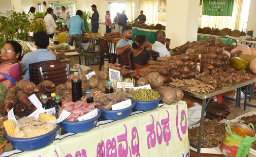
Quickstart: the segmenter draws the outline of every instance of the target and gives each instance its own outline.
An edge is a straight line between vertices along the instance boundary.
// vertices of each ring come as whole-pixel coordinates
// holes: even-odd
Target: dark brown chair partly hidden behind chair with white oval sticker
[[[39,76],[38,76],[38,70],[37,70],[37,66],[45,63],[47,61],[54,61],[54,60],[45,60],[45,61],[41,61],[41,62],[35,62],[35,63],[31,63],[29,65],[29,70],[30,70],[30,81],[34,82],[34,84],[39,84],[40,80],[39,80]]]

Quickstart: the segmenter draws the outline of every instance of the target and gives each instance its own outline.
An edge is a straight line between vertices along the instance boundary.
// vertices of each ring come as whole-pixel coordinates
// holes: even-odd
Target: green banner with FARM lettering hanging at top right
[[[234,0],[203,0],[202,15],[232,16]]]

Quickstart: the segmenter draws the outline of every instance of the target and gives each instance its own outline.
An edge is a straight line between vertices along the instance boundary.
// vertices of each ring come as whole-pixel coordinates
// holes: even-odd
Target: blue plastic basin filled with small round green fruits
[[[160,94],[160,93],[159,93]],[[136,101],[134,109],[138,111],[150,111],[158,107],[159,102],[162,100],[162,95],[160,94],[160,98],[153,101]]]

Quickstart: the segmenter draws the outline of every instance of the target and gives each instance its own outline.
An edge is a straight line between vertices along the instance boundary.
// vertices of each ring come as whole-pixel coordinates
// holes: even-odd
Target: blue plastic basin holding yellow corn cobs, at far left
[[[60,129],[60,124],[57,124],[53,131],[44,135],[32,138],[13,138],[7,135],[4,130],[4,138],[11,142],[13,148],[21,151],[34,151],[50,145],[56,137],[56,132]]]

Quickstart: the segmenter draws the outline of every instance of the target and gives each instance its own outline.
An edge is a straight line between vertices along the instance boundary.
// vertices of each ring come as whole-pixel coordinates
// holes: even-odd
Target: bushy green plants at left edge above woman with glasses
[[[0,16],[0,26],[0,47],[2,47],[7,41],[28,36],[30,23],[26,14],[13,11],[13,14],[6,17]]]

